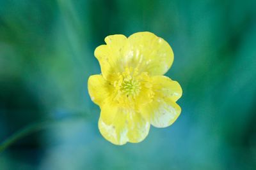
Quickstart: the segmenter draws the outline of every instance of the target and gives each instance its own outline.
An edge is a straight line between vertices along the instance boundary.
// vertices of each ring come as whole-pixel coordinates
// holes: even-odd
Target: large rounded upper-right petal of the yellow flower
[[[171,46],[163,38],[151,32],[137,32],[128,38],[130,66],[138,67],[150,76],[162,75],[170,69],[173,62]]]

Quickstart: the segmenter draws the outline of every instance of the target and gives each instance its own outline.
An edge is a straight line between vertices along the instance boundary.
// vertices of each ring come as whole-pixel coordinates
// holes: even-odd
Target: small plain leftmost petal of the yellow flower
[[[111,95],[113,86],[106,81],[102,75],[97,74],[90,76],[88,79],[88,92],[95,104],[99,106]]]

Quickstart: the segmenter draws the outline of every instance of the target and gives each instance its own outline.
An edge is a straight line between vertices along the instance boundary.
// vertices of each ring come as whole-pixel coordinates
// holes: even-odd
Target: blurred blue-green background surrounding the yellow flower
[[[0,169],[255,169],[255,2],[0,0],[0,142],[51,120],[0,153]],[[88,96],[93,51],[139,31],[172,46],[182,113],[115,146]]]

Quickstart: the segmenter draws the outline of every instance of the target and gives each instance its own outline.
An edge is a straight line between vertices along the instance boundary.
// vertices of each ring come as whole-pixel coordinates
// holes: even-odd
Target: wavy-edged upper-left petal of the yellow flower
[[[100,45],[95,49],[94,55],[99,60],[102,75],[106,80],[115,78],[118,73],[120,59],[122,59],[127,45],[127,38],[124,35],[116,34],[105,38],[107,45]]]

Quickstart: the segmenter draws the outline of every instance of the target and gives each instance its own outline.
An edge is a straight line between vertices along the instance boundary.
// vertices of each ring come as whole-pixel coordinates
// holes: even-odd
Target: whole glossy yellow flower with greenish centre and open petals
[[[167,127],[180,115],[177,81],[163,76],[172,66],[172,48],[151,32],[112,35],[95,49],[102,74],[90,76],[88,91],[100,106],[99,130],[115,145],[138,143],[150,124]]]

